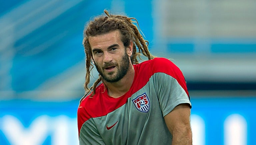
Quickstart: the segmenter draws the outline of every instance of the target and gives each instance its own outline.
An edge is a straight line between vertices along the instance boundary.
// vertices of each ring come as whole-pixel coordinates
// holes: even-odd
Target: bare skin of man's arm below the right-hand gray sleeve
[[[192,145],[189,104],[176,106],[164,119],[173,136],[172,145]]]

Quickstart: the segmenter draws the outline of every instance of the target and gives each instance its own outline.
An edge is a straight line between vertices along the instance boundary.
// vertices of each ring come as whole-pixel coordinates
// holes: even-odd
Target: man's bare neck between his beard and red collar
[[[113,98],[118,98],[128,92],[132,86],[134,74],[133,65],[130,64],[127,74],[121,80],[114,83],[104,82],[108,89],[108,95]]]

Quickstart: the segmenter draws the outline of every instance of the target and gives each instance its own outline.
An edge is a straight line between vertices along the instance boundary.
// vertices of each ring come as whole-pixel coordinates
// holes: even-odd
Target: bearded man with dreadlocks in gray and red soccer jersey
[[[106,17],[95,18],[84,30],[80,144],[192,144],[191,103],[180,69],[149,53],[134,18],[104,12]],[[140,53],[149,60],[139,63]],[[99,78],[89,89],[91,62]]]

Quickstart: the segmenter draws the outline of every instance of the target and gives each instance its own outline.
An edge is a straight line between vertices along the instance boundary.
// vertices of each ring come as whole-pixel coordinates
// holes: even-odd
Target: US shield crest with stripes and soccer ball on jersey
[[[146,93],[137,96],[135,99],[132,100],[132,102],[139,111],[148,112],[150,103]]]

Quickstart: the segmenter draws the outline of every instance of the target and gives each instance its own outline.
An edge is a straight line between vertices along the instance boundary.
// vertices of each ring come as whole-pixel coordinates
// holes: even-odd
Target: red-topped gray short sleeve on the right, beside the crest
[[[159,64],[159,65],[156,65]],[[171,112],[177,105],[191,102],[181,70],[168,59],[155,62],[153,83],[163,116]]]

